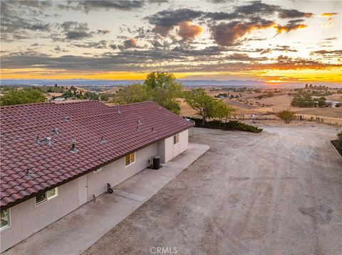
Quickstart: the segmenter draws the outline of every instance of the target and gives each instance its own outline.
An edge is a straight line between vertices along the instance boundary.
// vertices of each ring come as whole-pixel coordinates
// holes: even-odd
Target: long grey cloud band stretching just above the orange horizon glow
[[[76,70],[80,72],[103,72],[103,71],[131,71],[131,72],[148,72],[155,70],[155,65],[146,64],[147,60],[154,60],[153,64],[165,62],[160,70],[168,70],[169,72],[210,72],[210,71],[232,71],[232,70],[264,70],[264,69],[300,69],[300,68],[326,68],[326,67],[341,67],[342,65],[334,65],[321,63],[315,60],[305,60],[302,58],[289,58],[287,56],[279,56],[274,60],[274,63],[258,63],[257,60],[265,58],[249,58],[246,55],[230,55],[233,62],[219,62],[212,65],[209,61],[212,56],[209,55],[207,60],[203,59],[202,63],[192,63],[179,65],[179,61],[188,60],[185,56],[167,50],[124,50],[119,53],[105,53],[98,57],[82,57],[74,55],[63,55],[61,57],[51,57],[37,52],[16,53],[5,55],[1,58],[1,66],[3,68],[28,68],[36,66],[39,63],[42,68],[47,70]],[[246,61],[249,58],[249,61]],[[217,60],[226,60],[227,56],[222,56]]]

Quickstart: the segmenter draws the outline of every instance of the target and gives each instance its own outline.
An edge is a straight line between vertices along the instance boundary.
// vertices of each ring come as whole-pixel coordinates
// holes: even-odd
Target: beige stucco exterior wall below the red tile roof
[[[178,153],[187,149],[187,131],[180,133]],[[135,163],[125,167],[125,158],[103,166],[97,173],[90,172],[58,187],[58,196],[36,205],[35,198],[11,207],[11,226],[0,232],[0,252],[26,239],[31,234],[76,210],[85,202],[106,192],[106,183],[118,185],[148,166],[152,156],[160,155],[166,161],[174,154],[173,136],[154,143],[135,153]],[[163,162],[163,161],[162,161]]]

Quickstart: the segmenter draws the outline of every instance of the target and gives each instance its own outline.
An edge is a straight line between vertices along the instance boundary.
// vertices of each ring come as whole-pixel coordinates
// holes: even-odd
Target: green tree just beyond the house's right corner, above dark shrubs
[[[192,109],[195,109],[197,114],[202,116],[202,124],[205,124],[207,119],[212,118],[227,118],[234,108],[227,106],[223,101],[210,97],[204,89],[191,89],[185,94],[185,102],[189,104]]]

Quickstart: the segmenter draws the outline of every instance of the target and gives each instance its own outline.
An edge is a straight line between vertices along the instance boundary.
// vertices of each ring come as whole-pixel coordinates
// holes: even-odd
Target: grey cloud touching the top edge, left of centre
[[[145,1],[138,0],[115,0],[115,1],[68,1],[68,4],[58,4],[59,9],[71,11],[108,11],[117,9],[120,11],[134,11],[145,6]]]

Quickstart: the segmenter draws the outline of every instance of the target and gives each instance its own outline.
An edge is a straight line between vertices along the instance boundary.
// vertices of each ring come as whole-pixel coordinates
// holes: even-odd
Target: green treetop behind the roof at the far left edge
[[[43,92],[35,88],[24,89],[6,89],[4,95],[0,97],[0,104],[13,105],[13,104],[30,104],[45,102],[45,96]]]

